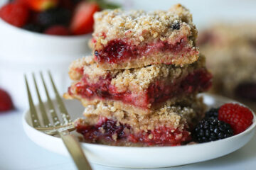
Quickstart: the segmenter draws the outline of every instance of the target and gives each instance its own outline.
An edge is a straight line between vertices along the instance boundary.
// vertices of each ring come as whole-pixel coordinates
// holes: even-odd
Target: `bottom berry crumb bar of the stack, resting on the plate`
[[[85,119],[75,127],[86,142],[126,146],[176,146],[191,141],[191,129],[203,117],[201,98],[170,106],[150,115],[127,113],[113,105],[97,103],[85,108]]]

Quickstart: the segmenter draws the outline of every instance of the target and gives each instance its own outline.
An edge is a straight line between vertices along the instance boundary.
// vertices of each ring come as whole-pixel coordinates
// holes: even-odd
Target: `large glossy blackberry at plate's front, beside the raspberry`
[[[221,140],[233,136],[233,130],[228,123],[215,119],[201,120],[192,132],[195,142],[203,143]]]

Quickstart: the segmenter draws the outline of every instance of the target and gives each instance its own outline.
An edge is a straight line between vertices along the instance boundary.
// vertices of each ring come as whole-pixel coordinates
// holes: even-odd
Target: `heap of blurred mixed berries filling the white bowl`
[[[36,33],[82,35],[92,32],[96,11],[117,7],[104,0],[14,0],[0,8],[0,18]]]

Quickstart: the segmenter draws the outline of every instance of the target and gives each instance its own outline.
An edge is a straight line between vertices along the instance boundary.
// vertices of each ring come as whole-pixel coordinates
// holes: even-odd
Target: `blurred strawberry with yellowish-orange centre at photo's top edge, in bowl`
[[[21,0],[33,11],[46,11],[58,5],[58,0]]]

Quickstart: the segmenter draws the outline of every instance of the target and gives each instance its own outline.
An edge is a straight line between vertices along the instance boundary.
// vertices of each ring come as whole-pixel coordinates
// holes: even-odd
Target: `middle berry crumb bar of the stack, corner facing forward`
[[[175,103],[211,86],[203,56],[184,67],[159,64],[110,71],[97,67],[93,57],[83,57],[70,65],[69,74],[74,82],[65,98],[78,98],[84,106],[104,101],[141,114],[151,113],[152,108],[165,101]]]

